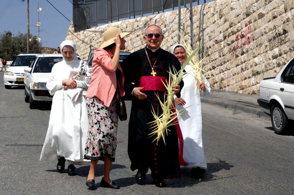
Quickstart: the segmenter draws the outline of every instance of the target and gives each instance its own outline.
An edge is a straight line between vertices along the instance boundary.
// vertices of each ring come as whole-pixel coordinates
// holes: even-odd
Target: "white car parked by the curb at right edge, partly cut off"
[[[257,102],[270,115],[275,133],[294,129],[294,58],[276,77],[260,82]]]

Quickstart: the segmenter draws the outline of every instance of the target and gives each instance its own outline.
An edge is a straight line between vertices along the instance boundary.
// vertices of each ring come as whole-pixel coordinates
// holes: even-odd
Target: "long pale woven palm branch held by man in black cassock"
[[[184,75],[186,74],[184,72],[184,69],[186,65],[190,62],[191,58],[195,56],[196,52],[198,50],[194,50],[191,55],[186,59],[184,64],[181,67],[181,70],[178,72],[176,69],[172,66],[173,70],[169,70],[169,78],[166,80],[166,83],[163,82],[163,85],[166,88],[167,96],[164,97],[163,102],[160,100],[160,98],[157,95],[157,99],[159,100],[159,106],[162,108],[162,114],[158,116],[158,113],[155,112],[155,110],[152,108],[152,115],[154,117],[154,121],[150,122],[150,128],[152,129],[152,132],[149,134],[149,136],[156,136],[156,138],[153,141],[156,141],[157,143],[163,138],[163,142],[165,144],[165,135],[168,134],[168,127],[174,125],[173,120],[181,115],[182,110],[178,110],[176,112],[171,112],[171,110],[174,108],[173,106],[173,97],[175,95],[175,92],[172,90],[173,86],[178,85],[181,80],[183,79]],[[176,115],[177,114],[177,115]]]

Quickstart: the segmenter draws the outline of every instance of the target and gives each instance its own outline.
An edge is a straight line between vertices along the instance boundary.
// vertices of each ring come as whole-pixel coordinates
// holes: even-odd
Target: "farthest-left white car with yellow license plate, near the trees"
[[[28,67],[39,53],[21,53],[11,63],[4,73],[3,80],[6,89],[12,86],[24,86],[24,68]]]

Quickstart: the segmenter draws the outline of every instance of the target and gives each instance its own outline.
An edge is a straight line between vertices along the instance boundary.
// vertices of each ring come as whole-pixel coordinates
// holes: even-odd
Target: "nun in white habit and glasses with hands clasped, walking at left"
[[[63,172],[69,161],[68,174],[76,175],[74,164],[90,164],[83,158],[88,132],[86,92],[90,84],[88,63],[77,58],[76,44],[66,40],[60,44],[63,61],[56,63],[46,87],[53,96],[49,126],[40,160],[57,160]],[[75,79],[81,67],[86,76]]]

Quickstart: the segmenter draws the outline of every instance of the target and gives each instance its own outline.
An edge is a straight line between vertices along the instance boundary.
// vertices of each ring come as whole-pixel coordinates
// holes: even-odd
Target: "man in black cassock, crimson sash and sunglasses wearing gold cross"
[[[125,75],[125,90],[132,97],[131,116],[128,125],[128,155],[131,170],[138,170],[136,181],[144,184],[146,173],[151,169],[151,177],[157,187],[166,187],[164,179],[180,177],[178,135],[174,126],[157,143],[150,137],[150,122],[154,121],[152,108],[161,115],[159,100],[163,102],[166,88],[162,81],[169,78],[172,65],[179,71],[181,64],[173,54],[160,48],[163,32],[155,24],[145,29],[143,39],[146,46],[130,54],[122,63]],[[183,82],[173,88],[180,97]],[[158,95],[158,97],[157,97]]]

